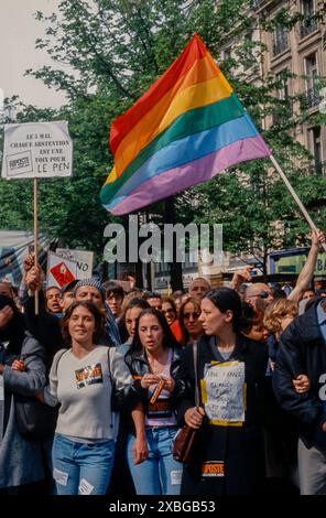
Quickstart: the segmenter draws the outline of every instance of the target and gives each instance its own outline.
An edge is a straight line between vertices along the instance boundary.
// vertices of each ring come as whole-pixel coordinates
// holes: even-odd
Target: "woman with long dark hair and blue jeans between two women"
[[[142,402],[145,431],[138,441],[145,441],[149,455],[142,463],[133,463],[134,436],[129,434],[128,462],[139,495],[180,494],[182,465],[171,452],[177,423],[175,406],[184,393],[181,371],[180,345],[175,341],[162,313],[143,310],[126,363],[134,385],[122,403],[130,409]],[[120,401],[121,403],[121,401]]]

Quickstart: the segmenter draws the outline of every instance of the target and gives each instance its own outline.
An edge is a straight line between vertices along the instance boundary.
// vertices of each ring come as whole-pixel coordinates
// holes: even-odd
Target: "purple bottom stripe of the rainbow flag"
[[[143,182],[116,206],[115,201],[112,201],[111,204],[106,205],[106,208],[116,216],[121,216],[210,180],[230,165],[247,160],[262,159],[271,154],[270,149],[260,136],[238,140],[206,157],[180,168],[164,171],[148,182]],[[162,193],[162,195],[160,196],[159,193]]]

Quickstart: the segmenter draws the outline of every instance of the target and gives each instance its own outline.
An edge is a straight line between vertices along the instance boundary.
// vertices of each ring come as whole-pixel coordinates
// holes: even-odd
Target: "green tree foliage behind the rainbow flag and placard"
[[[112,119],[128,109],[162,74],[189,41],[199,33],[260,127],[265,117],[278,121],[263,131],[274,154],[293,181],[303,202],[325,223],[325,181],[307,175],[311,157],[296,141],[295,128],[307,120],[296,107],[279,99],[274,76],[261,77],[264,47],[250,37],[258,26],[293,26],[298,14],[281,10],[272,20],[258,20],[249,0],[61,0],[51,17],[36,19],[45,26],[36,48],[45,48],[58,69],[43,66],[28,74],[50,88],[64,90],[68,104],[58,111],[23,107],[18,121],[66,119],[74,139],[74,177],[42,182],[42,228],[74,246],[102,249],[102,231],[112,220],[99,204],[98,192],[112,158],[107,138]],[[222,60],[226,42],[232,55]],[[61,68],[68,65],[69,72]],[[253,80],[256,79],[256,80]],[[322,116],[315,123],[320,123]],[[28,182],[0,182],[0,225],[22,228],[31,222],[31,186]],[[19,203],[24,199],[24,205]],[[222,223],[225,248],[265,256],[271,248],[293,246],[307,227],[294,202],[268,161],[252,161],[218,175],[209,183],[176,196],[177,219]],[[163,214],[162,203],[151,212]],[[276,222],[276,223],[275,223]],[[278,223],[279,222],[279,223]]]

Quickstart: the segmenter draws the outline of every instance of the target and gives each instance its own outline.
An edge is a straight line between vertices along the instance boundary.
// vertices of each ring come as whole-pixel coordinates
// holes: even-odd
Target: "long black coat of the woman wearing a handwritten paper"
[[[265,344],[237,336],[236,347],[227,360],[244,364],[246,412],[242,425],[218,425],[203,420],[196,434],[191,463],[184,471],[182,494],[235,495],[258,492],[263,477],[263,447],[261,408],[258,397],[265,382],[268,349]],[[193,347],[183,350],[183,376],[189,382],[186,397],[178,404],[178,419],[183,423],[185,411],[195,406],[195,376]],[[213,361],[225,363],[219,355],[215,338],[203,336],[198,343],[198,377],[205,377],[205,366]],[[200,391],[202,392],[202,391]],[[203,395],[200,393],[200,397]],[[202,402],[203,404],[203,402]],[[203,475],[203,466],[224,463],[225,476]]]

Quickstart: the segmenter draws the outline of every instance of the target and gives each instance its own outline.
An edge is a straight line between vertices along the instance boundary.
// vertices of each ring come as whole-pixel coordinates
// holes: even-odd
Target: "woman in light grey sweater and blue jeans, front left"
[[[95,304],[73,302],[62,325],[70,347],[55,355],[43,392],[47,404],[61,404],[52,449],[53,477],[58,495],[105,495],[118,424],[111,408],[112,384],[123,390],[132,379],[123,361],[111,359],[112,348],[98,345],[104,313]]]

